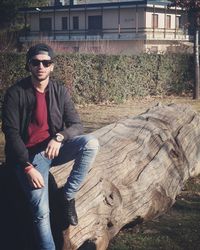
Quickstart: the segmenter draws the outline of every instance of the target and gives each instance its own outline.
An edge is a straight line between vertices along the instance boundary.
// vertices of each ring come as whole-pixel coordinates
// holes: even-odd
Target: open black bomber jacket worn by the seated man
[[[61,133],[68,140],[83,132],[78,113],[65,86],[49,81],[47,108],[49,114],[49,132],[53,137]],[[5,134],[5,155],[8,165],[29,161],[29,152],[25,146],[28,141],[28,125],[36,103],[31,77],[27,77],[11,86],[4,97],[2,110],[2,131]]]

